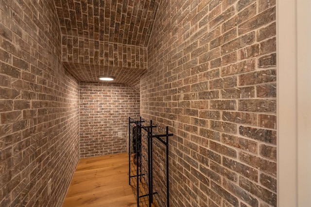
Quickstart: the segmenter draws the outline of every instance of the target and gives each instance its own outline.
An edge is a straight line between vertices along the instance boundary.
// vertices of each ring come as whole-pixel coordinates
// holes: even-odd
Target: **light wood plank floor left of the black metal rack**
[[[63,207],[137,207],[126,153],[80,159]]]

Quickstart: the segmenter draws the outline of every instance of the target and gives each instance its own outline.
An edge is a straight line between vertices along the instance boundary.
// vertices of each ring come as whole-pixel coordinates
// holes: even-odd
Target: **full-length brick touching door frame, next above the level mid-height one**
[[[239,86],[255,85],[276,81],[276,70],[260,70],[239,76]]]

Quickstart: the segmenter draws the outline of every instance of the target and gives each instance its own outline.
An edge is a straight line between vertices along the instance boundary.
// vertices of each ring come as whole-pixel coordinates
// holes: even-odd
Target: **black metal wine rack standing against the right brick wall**
[[[170,188],[169,188],[169,137],[173,134],[169,133],[166,127],[164,134],[156,134],[153,128],[157,127],[150,121],[149,126],[143,126],[143,121],[134,120],[129,117],[129,185],[132,186],[137,199],[137,207],[170,206]],[[148,123],[149,124],[149,123]],[[154,146],[155,145],[155,146]],[[157,150],[165,152],[165,160],[159,156]],[[155,156],[155,157],[154,157]],[[164,162],[165,169],[162,167],[154,167],[155,160]],[[165,174],[166,180],[162,180],[158,170]],[[155,171],[155,172],[154,172]],[[155,174],[154,174],[155,173]],[[161,182],[159,184],[158,182]],[[159,189],[165,183],[166,192]],[[154,182],[157,185],[154,185]],[[161,191],[162,193],[158,193]],[[159,198],[154,201],[154,195]],[[165,197],[165,198],[163,198]],[[158,205],[156,205],[156,203]]]

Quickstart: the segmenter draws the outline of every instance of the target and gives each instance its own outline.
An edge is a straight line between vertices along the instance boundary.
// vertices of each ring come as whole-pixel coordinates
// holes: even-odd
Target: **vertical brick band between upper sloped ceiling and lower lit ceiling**
[[[147,68],[145,47],[63,35],[62,53],[69,63]]]

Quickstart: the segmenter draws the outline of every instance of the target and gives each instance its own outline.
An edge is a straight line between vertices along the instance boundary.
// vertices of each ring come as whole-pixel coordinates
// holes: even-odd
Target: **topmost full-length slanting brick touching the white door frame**
[[[276,20],[276,7],[269,8],[264,12],[250,18],[238,27],[239,35],[255,30],[263,25]]]

